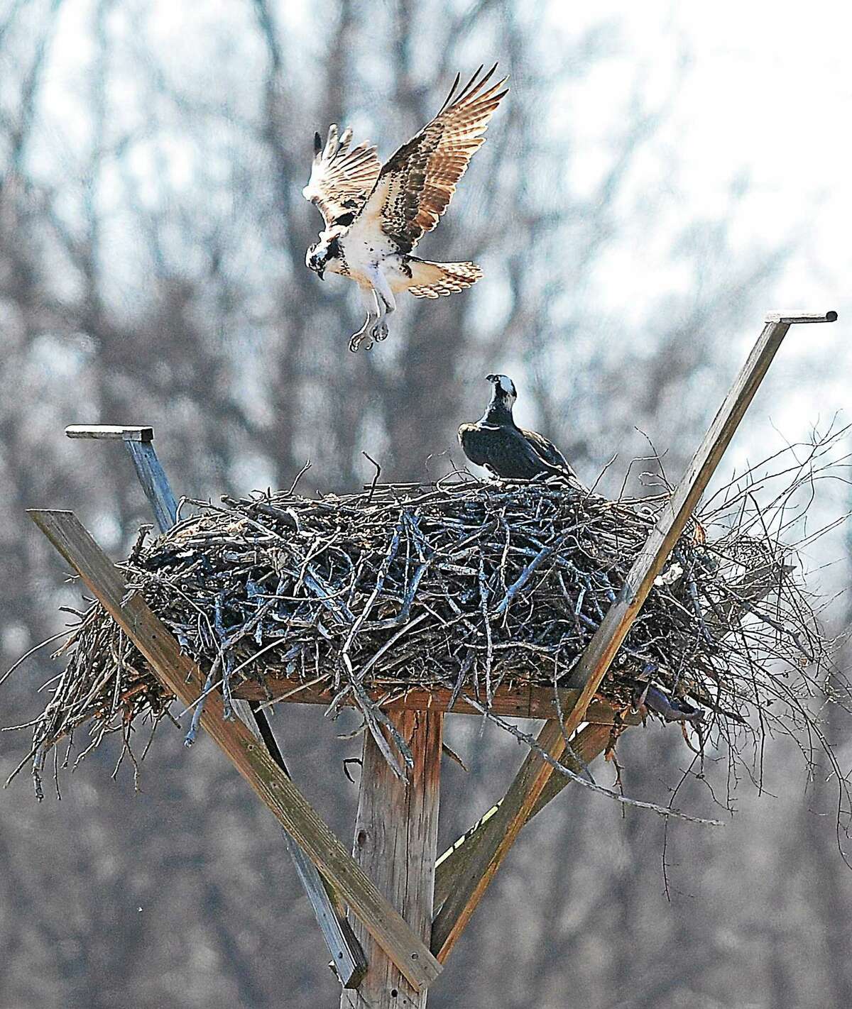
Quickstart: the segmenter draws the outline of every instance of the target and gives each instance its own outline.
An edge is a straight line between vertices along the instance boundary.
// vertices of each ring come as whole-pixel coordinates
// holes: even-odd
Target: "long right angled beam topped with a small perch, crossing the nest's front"
[[[559,760],[565,750],[565,740],[583,720],[589,702],[627,637],[654,578],[662,570],[683,532],[790,325],[798,321],[834,322],[836,319],[836,312],[822,316],[790,314],[770,317],[764,325],[671,499],[637,555],[616,601],[610,606],[577,664],[569,684],[580,691],[574,707],[567,712],[563,724],[551,719],[541,728],[536,745],[548,756]],[[552,773],[552,767],[531,750],[500,808],[483,828],[476,852],[454,878],[452,892],[433,924],[432,950],[441,963],[470,920]]]

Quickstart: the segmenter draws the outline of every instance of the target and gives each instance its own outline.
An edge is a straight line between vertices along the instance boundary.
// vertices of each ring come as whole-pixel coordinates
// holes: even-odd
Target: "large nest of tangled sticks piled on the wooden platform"
[[[701,743],[709,728],[730,743],[754,711],[762,727],[805,724],[807,668],[823,652],[787,548],[746,518],[743,491],[728,498],[688,524],[601,686],[617,708],[645,701],[687,721]],[[128,589],[226,709],[244,679],[287,676],[330,685],[333,709],[354,700],[381,736],[368,687],[388,698],[448,688],[488,711],[501,684],[570,685],[668,495],[611,501],[456,476],[223,500],[188,502],[197,514],[168,535],[140,536],[120,565]],[[67,667],[35,724],[36,773],[84,724],[84,753],[115,730],[126,743],[140,715],[156,723],[174,699],[100,604],[61,652]]]

